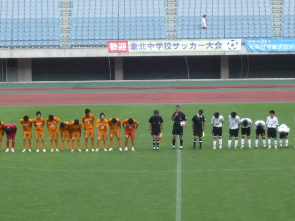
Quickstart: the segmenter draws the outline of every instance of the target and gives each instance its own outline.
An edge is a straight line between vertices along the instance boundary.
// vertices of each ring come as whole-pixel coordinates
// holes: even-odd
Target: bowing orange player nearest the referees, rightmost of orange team
[[[122,122],[123,128],[125,129],[125,149],[128,150],[128,139],[131,138],[131,150],[134,151],[135,146],[135,130],[138,127],[138,122],[133,118],[127,118]]]

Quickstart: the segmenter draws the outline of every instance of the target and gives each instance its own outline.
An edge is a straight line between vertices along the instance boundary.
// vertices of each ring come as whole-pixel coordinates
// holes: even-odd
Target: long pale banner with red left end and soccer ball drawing
[[[121,46],[124,42],[108,41],[109,52],[193,52],[241,49],[241,39],[128,40],[128,45],[122,51]]]

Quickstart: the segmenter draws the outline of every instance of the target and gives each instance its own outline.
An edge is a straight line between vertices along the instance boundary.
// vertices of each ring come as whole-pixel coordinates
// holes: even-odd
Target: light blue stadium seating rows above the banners
[[[67,1],[69,3],[69,1]],[[107,40],[166,39],[168,0],[73,0],[70,45]],[[60,46],[63,2],[0,0],[0,47]],[[177,39],[272,37],[267,0],[175,0]],[[295,36],[295,2],[283,1],[283,37]],[[166,8],[165,8],[166,7]],[[207,30],[201,28],[207,15]],[[175,22],[175,21],[174,21]]]

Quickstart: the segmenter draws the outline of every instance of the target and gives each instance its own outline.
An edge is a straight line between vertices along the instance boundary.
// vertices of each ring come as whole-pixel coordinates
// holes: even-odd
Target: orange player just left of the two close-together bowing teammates
[[[58,134],[58,123],[61,121],[61,119],[54,117],[53,115],[49,115],[47,120],[46,120],[46,125],[48,129],[48,135],[50,139],[50,147],[51,147],[51,152],[53,152],[53,140],[55,140],[55,146],[56,146],[56,151],[59,151],[59,134]]]

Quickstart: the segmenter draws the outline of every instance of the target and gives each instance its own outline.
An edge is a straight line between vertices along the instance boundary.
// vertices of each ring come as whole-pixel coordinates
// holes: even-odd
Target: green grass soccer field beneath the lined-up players
[[[34,118],[36,111],[41,111],[43,118],[53,114],[72,121],[81,119],[85,108],[90,108],[95,118],[104,112],[106,118],[139,121],[136,151],[119,152],[115,141],[112,152],[21,152],[18,121],[24,115]],[[192,150],[190,120],[200,108],[207,118],[206,136],[203,150]],[[159,109],[164,119],[157,152],[152,150],[147,123],[154,109]],[[259,149],[212,150],[214,112],[225,118],[226,147],[227,118],[232,111],[255,122],[266,121],[270,109],[276,111],[279,124],[290,127],[290,149],[263,149],[260,140]],[[182,152],[171,150],[174,110],[175,104],[2,106],[0,120],[17,123],[19,130],[16,152],[4,152],[5,137],[0,151],[0,220],[294,219],[293,103],[182,104],[189,120]],[[81,141],[84,150],[83,138]],[[252,143],[254,146],[254,127]],[[48,139],[46,146],[49,150]],[[34,139],[32,148],[35,150]]]

